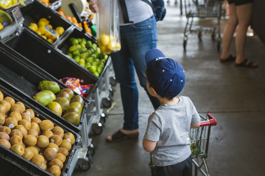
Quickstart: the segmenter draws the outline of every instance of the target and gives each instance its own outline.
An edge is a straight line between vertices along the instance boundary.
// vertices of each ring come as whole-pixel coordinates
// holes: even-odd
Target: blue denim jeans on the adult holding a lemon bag
[[[135,82],[134,68],[140,80],[140,85],[147,92],[154,109],[160,106],[160,101],[152,97],[146,88],[145,53],[156,48],[157,27],[154,16],[133,25],[120,26],[121,50],[112,53],[111,58],[115,77],[121,88],[121,98],[124,111],[123,129],[138,129],[138,89]],[[149,113],[149,112],[148,112]]]

